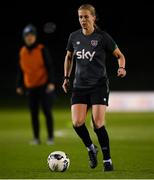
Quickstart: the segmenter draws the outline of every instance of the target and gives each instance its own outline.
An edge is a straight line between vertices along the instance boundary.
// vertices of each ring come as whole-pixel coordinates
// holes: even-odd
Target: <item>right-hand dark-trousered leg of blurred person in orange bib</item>
[[[46,93],[45,89],[41,91],[41,105],[46,119],[46,127],[48,132],[47,144],[52,145],[54,140],[53,115],[52,115],[52,97]]]

